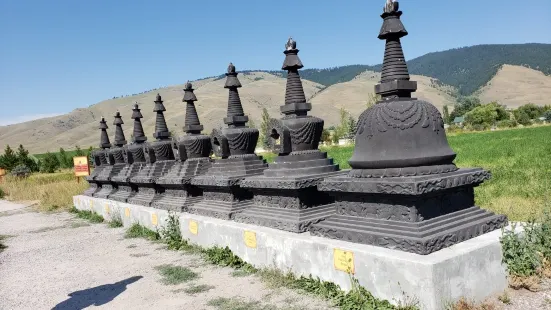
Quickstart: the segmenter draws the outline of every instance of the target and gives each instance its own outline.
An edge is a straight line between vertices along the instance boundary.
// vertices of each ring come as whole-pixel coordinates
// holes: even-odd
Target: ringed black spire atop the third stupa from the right
[[[239,98],[239,92],[237,91],[241,87],[237,74],[235,66],[230,62],[226,73],[226,84],[224,85],[224,88],[229,89],[228,117],[224,118],[224,123],[230,127],[244,127],[245,123],[249,121],[243,111],[241,98]]]

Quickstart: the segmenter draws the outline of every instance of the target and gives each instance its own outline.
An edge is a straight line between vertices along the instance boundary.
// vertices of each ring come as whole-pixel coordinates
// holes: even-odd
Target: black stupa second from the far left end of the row
[[[121,114],[117,111],[115,120],[113,121],[113,125],[115,125],[115,142],[114,146],[109,150],[109,161],[112,163],[111,171],[109,171],[109,175],[107,176],[109,182],[103,184],[101,191],[96,193],[94,197],[106,199],[114,195],[118,190],[118,183],[114,182],[112,178],[118,176],[127,165],[126,139],[122,130],[122,124],[124,122],[122,121]]]

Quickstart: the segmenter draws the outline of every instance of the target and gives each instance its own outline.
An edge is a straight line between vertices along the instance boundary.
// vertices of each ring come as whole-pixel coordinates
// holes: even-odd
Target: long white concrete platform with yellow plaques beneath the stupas
[[[140,223],[158,229],[165,210],[75,196],[80,210],[93,210],[124,226]],[[461,297],[482,301],[507,287],[499,243],[501,231],[462,242],[430,255],[296,234],[276,229],[180,213],[184,238],[203,247],[228,246],[255,267],[275,267],[296,275],[312,275],[350,289],[350,274],[374,296],[396,304],[415,298],[421,309],[443,309]]]

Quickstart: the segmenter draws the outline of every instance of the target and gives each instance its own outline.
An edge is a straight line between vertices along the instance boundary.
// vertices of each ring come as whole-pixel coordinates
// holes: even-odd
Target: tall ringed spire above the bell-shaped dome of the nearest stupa
[[[406,59],[400,38],[408,32],[400,20],[402,11],[398,1],[387,0],[381,18],[383,25],[378,38],[385,40],[385,56],[381,71],[381,82],[375,86],[375,92],[383,100],[411,98],[417,90],[417,82],[410,81]]]

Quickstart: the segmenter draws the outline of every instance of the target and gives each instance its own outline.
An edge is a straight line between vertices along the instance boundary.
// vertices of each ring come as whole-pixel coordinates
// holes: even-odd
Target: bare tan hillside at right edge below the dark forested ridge
[[[497,101],[508,108],[528,103],[551,104],[551,76],[525,67],[503,65],[477,95],[484,103]]]

